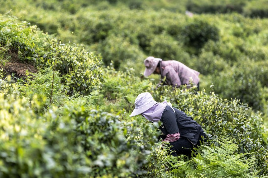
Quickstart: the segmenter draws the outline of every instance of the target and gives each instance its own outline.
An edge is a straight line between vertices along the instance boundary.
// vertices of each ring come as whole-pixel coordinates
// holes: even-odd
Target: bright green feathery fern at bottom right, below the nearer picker
[[[196,157],[174,165],[176,177],[254,177],[256,159],[238,154],[238,146],[230,137],[220,137],[216,143],[199,148]]]

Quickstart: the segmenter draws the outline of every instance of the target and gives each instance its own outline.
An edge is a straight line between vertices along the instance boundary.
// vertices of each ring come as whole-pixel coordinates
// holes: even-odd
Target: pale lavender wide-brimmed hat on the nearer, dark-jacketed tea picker
[[[130,117],[139,115],[146,110],[150,109],[153,105],[155,105],[157,102],[153,99],[150,93],[145,92],[141,93],[136,97],[135,100],[135,109],[132,111]]]

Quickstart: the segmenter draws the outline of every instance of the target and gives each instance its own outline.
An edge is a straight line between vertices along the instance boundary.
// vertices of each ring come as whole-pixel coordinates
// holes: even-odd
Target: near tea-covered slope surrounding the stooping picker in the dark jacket
[[[18,79],[1,71],[1,177],[267,176],[261,113],[214,92],[155,89],[133,69],[104,67],[83,45],[64,44],[36,26],[4,18],[2,65],[15,53],[38,72]],[[157,142],[157,123],[128,116],[145,91],[202,125],[209,139],[195,158],[170,156],[168,145]]]

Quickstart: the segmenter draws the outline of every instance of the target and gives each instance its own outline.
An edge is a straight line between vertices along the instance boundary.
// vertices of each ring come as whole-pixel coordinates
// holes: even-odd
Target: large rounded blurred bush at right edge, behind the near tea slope
[[[267,64],[259,64],[249,60],[243,65],[237,64],[239,68],[229,68],[228,73],[222,71],[212,79],[215,92],[225,98],[235,96],[253,108],[262,110],[267,100],[261,92],[261,88],[266,86],[266,70],[263,70],[263,67]]]

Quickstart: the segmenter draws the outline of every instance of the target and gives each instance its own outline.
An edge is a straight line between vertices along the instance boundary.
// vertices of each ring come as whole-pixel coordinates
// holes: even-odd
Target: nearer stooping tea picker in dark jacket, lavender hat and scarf
[[[162,135],[160,137],[171,145],[171,155],[190,155],[192,149],[200,146],[206,135],[201,126],[187,116],[183,111],[164,101],[158,103],[153,100],[150,93],[145,92],[137,96],[135,109],[130,117],[141,114],[152,122],[161,121]]]

